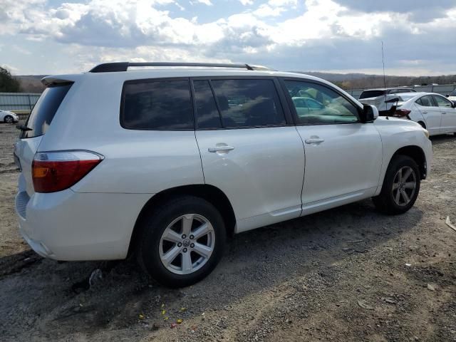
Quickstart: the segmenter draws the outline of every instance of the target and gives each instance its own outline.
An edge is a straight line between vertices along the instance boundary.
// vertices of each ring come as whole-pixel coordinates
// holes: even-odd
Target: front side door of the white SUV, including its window
[[[373,123],[360,123],[358,107],[321,83],[285,80],[304,142],[303,214],[370,197],[378,187],[382,142]],[[318,101],[321,110],[299,108],[294,95]]]

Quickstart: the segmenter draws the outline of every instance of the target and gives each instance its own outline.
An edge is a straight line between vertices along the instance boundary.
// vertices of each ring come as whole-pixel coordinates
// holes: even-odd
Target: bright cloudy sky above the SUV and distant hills
[[[79,73],[108,61],[286,71],[456,73],[456,0],[0,0],[0,65]]]

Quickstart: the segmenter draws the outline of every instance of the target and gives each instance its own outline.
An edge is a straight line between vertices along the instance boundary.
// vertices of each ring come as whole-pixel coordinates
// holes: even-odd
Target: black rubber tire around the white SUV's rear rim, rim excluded
[[[167,269],[160,259],[160,239],[169,224],[186,214],[201,215],[212,224],[214,248],[210,257],[199,269],[190,274],[175,274]],[[190,286],[210,274],[222,258],[227,239],[224,220],[219,211],[206,200],[193,196],[177,197],[160,204],[143,217],[138,228],[140,234],[138,234],[135,252],[139,264],[153,279],[169,287]],[[195,254],[192,255],[195,257]],[[183,254],[180,254],[180,258],[183,258]],[[183,262],[182,259],[180,261]]]

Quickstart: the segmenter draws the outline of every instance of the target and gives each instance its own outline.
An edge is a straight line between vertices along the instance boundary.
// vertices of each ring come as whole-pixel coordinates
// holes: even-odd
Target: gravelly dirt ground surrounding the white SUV
[[[239,234],[207,279],[166,289],[130,260],[28,249],[16,135],[0,125],[0,341],[456,341],[455,136],[432,139],[432,175],[408,213],[366,200]]]

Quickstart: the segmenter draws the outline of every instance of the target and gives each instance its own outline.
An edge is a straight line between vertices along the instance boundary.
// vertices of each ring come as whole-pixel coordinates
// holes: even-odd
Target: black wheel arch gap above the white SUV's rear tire
[[[234,210],[231,202],[227,195],[222,192],[218,187],[213,185],[201,184],[201,185],[183,185],[180,187],[172,187],[167,190],[158,192],[157,194],[150,197],[150,199],[142,207],[140,214],[138,215],[135,226],[133,227],[133,232],[130,237],[130,245],[128,247],[128,255],[132,254],[135,247],[136,239],[138,239],[138,234],[140,232],[140,222],[145,217],[145,214],[151,212],[154,207],[162,202],[166,202],[172,198],[179,196],[195,196],[207,200],[214,205],[214,207],[219,210],[220,214],[224,219],[225,229],[227,229],[227,234],[232,236],[234,234],[234,227],[236,225],[236,217],[234,215]]]

